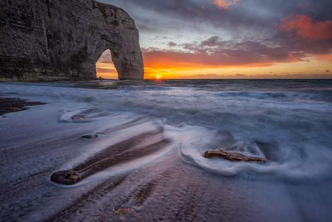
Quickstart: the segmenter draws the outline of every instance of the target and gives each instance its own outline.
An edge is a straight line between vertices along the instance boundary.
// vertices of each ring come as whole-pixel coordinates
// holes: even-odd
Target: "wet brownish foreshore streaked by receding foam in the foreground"
[[[145,122],[128,121],[118,125],[118,132],[124,130],[124,126],[140,127]],[[100,131],[100,133],[114,132],[114,128]],[[57,142],[47,143],[49,149],[57,150],[58,157],[52,158],[52,167],[45,168],[41,164],[32,169],[26,166],[29,167],[30,172],[35,172],[22,173],[21,176],[1,184],[3,192],[0,197],[6,203],[0,208],[2,219],[7,221],[21,219],[28,221],[217,221],[223,218],[234,221],[254,221],[247,215],[255,213],[257,216],[257,212],[254,212],[251,205],[246,203],[248,200],[243,192],[243,185],[240,185],[242,188],[238,188],[239,190],[233,193],[233,189],[237,188],[231,184],[236,179],[221,179],[218,175],[192,166],[179,154],[178,149],[163,154],[161,158],[149,164],[108,176],[105,180],[99,180],[96,177],[97,179],[90,179],[84,185],[86,180],[100,172],[111,170],[116,166],[135,165],[136,160],[154,155],[172,144],[172,141],[163,134],[162,128],[156,127],[155,130],[149,131],[144,131],[143,128],[136,136],[106,147],[74,166],[73,169],[82,174],[78,186],[57,186],[50,182],[50,175],[70,159],[70,156],[75,157],[84,153],[83,150],[80,151],[80,146],[83,144],[93,146],[101,138],[88,140],[71,134],[67,139],[55,139]],[[29,137],[29,134],[31,132],[27,132],[26,136]],[[68,152],[64,154],[61,151],[61,143],[69,143],[77,149],[74,149],[72,154]],[[18,153],[22,152],[18,154],[17,159],[21,159],[22,155],[29,159],[29,156],[23,154],[26,151],[34,153],[33,156],[39,156],[40,154],[33,150],[41,151],[43,147],[45,143],[24,144],[16,147]],[[6,153],[6,151],[2,152]],[[31,167],[34,165],[30,164]],[[13,171],[18,172],[17,170]],[[227,213],[227,208],[232,208],[234,205],[238,206],[242,213]],[[226,209],[223,210],[224,207]]]

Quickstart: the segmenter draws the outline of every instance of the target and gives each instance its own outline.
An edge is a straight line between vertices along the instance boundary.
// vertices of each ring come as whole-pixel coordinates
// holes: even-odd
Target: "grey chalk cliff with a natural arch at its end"
[[[0,79],[94,79],[109,49],[120,80],[143,79],[134,20],[94,0],[0,0]]]

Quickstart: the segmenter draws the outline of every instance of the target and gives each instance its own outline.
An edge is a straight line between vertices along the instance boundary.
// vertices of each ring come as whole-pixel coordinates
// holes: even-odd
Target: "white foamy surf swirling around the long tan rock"
[[[290,141],[276,142],[273,139],[269,143],[245,138],[239,140],[229,134],[193,126],[183,126],[176,131],[176,135],[181,142],[180,151],[184,161],[213,173],[224,176],[270,175],[271,179],[293,182],[331,178],[330,168],[326,163],[332,157],[332,150],[322,144],[317,149],[315,142],[306,141],[301,144],[298,141],[292,144]],[[206,159],[204,152],[207,150],[239,152],[272,162],[238,162],[219,157]]]

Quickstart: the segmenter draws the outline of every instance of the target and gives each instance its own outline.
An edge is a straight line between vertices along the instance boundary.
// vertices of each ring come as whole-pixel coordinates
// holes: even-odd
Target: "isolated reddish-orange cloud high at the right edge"
[[[281,28],[288,32],[296,32],[307,40],[327,40],[332,38],[332,20],[314,21],[306,15],[290,15],[280,19]]]

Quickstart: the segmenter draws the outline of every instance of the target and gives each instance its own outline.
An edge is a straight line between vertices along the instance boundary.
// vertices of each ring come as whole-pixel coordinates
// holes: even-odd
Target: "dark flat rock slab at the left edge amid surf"
[[[45,103],[27,102],[27,100],[20,99],[20,98],[0,97],[0,115],[6,114],[6,113],[19,112],[19,111],[25,109],[25,108],[22,108],[24,106],[42,105],[42,104],[45,104]]]

